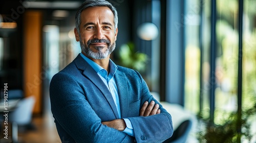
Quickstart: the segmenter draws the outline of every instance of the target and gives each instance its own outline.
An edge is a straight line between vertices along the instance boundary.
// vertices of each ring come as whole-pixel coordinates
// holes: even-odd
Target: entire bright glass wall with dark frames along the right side
[[[185,2],[185,108],[205,121],[213,117],[210,125],[216,129],[221,125],[233,130],[236,135],[231,140],[253,142],[256,140],[256,130],[252,129],[256,126],[256,1]],[[216,14],[214,18],[212,13]],[[212,27],[215,31],[211,31]],[[214,57],[212,52],[216,52]],[[242,106],[241,116],[239,106]]]

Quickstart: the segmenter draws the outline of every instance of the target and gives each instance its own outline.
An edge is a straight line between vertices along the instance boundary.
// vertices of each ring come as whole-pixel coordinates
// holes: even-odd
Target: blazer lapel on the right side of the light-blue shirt
[[[121,117],[126,117],[129,107],[129,90],[125,74],[117,69],[115,74],[116,86],[120,102]]]

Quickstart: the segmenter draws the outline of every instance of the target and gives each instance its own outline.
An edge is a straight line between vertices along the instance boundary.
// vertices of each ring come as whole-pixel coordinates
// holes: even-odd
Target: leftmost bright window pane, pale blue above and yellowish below
[[[185,3],[185,108],[199,112],[200,92],[200,8],[199,1]],[[197,36],[195,36],[197,35]]]

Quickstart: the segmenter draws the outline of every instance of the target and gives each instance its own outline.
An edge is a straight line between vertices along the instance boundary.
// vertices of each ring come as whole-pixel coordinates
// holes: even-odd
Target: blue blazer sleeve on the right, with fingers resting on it
[[[154,100],[159,104],[160,114],[151,116],[128,117],[134,128],[134,135],[137,142],[163,142],[173,135],[172,116],[163,108],[163,106],[153,98],[145,81],[138,71],[136,71],[141,80],[141,105],[145,101],[149,103]],[[139,86],[139,85],[137,85]]]

